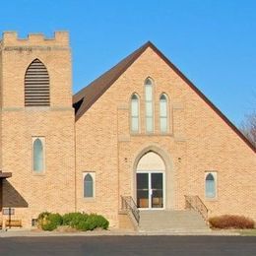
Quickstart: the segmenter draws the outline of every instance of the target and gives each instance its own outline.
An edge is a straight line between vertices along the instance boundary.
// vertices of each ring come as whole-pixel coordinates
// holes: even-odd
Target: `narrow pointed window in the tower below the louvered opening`
[[[32,143],[33,171],[40,173],[44,170],[44,152],[42,140],[36,138]]]

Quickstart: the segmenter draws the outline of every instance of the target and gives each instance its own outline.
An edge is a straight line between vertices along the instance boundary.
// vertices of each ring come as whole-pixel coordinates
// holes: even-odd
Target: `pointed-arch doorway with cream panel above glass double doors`
[[[140,209],[165,208],[165,164],[153,151],[146,153],[138,161],[136,197]]]

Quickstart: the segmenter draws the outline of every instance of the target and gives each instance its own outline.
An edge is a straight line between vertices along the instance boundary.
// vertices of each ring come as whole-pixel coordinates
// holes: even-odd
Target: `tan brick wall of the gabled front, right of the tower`
[[[155,82],[155,133],[145,133],[144,81]],[[141,133],[129,131],[130,96],[141,105]],[[169,133],[160,134],[159,98],[169,97]],[[255,153],[156,52],[148,48],[76,122],[78,208],[117,224],[120,195],[136,195],[136,160],[155,149],[166,163],[166,208],[184,209],[184,195],[199,195],[210,216],[256,219]],[[163,157],[164,155],[165,157]],[[82,172],[96,172],[96,199],[83,198]],[[218,172],[218,197],[205,198],[205,172]],[[81,186],[81,187],[79,187]]]

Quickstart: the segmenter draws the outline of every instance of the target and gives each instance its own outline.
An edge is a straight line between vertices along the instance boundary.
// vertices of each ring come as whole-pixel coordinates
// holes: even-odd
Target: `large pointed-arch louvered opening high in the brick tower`
[[[35,59],[25,74],[25,106],[49,105],[49,75],[43,63]]]

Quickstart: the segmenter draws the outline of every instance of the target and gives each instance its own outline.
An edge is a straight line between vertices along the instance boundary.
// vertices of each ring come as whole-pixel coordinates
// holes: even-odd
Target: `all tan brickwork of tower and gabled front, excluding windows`
[[[50,76],[50,107],[24,107],[24,75],[33,59]],[[3,207],[16,209],[25,225],[42,211],[84,211],[118,225],[120,196],[136,199],[140,158],[156,152],[165,163],[165,209],[182,210],[184,195],[198,195],[210,215],[237,214],[256,220],[255,151],[204,98],[152,48],[126,69],[75,122],[68,34],[1,42],[1,164]],[[145,129],[146,78],[154,81],[153,134]],[[140,132],[130,132],[130,100],[140,97]],[[168,96],[168,133],[160,133],[160,95]],[[32,173],[32,137],[45,138],[44,174]],[[217,172],[217,198],[205,198],[205,172]],[[84,198],[85,172],[95,174],[95,197]]]

